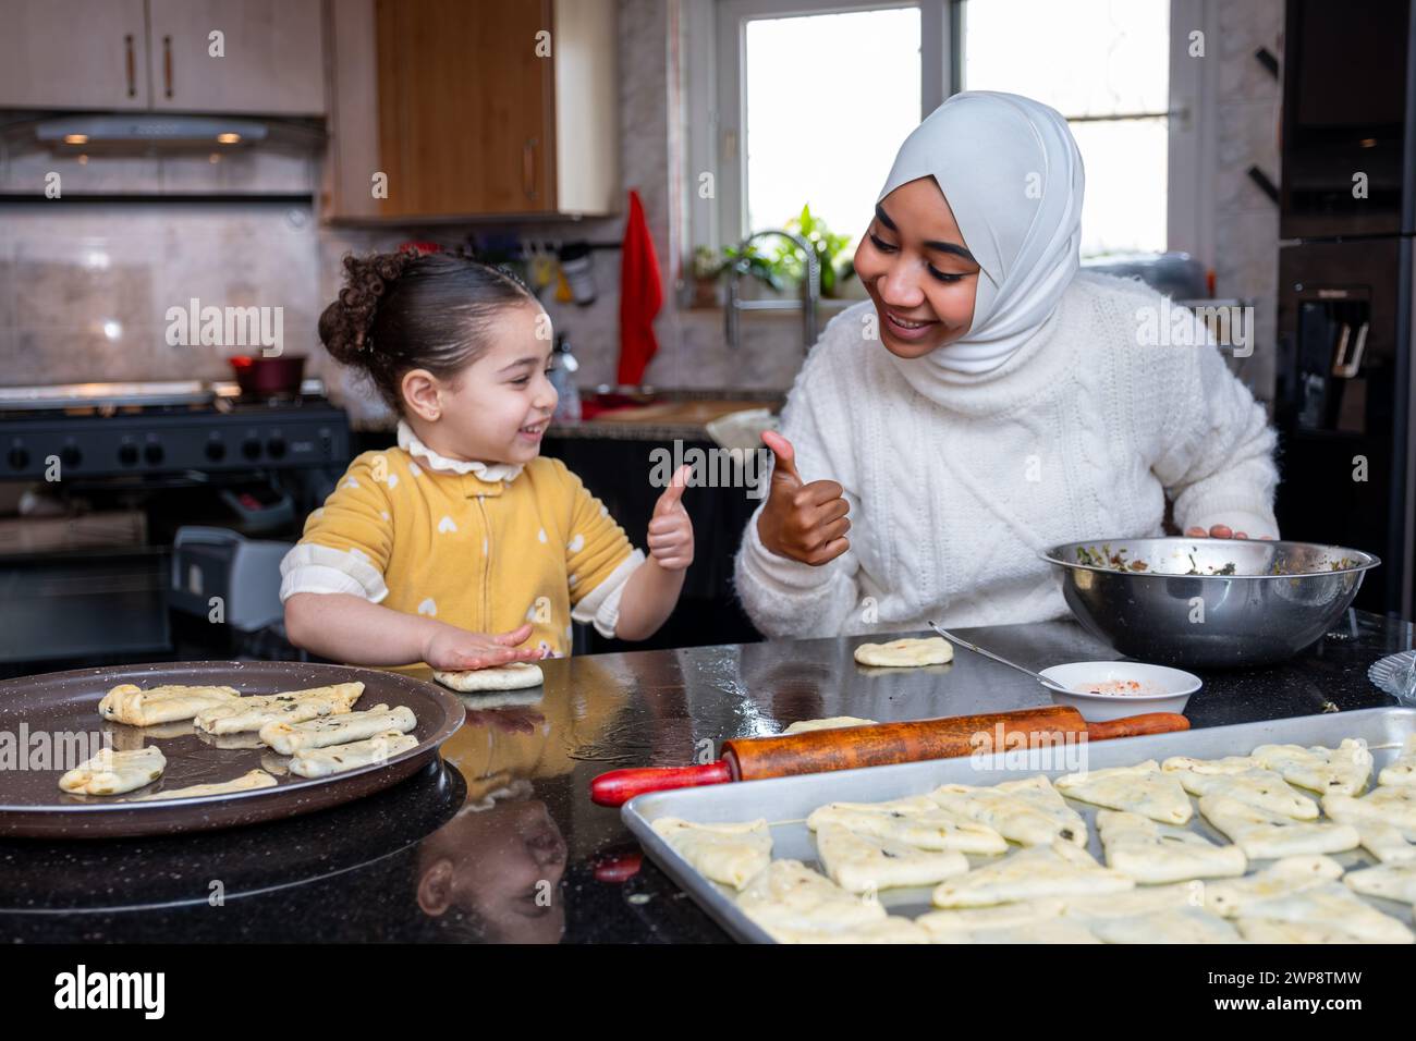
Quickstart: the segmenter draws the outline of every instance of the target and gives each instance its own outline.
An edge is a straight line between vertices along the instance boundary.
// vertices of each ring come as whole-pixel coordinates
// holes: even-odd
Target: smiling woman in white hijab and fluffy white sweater
[[[855,254],[871,299],[763,435],[736,564],[760,630],[1062,618],[1038,554],[1160,535],[1167,499],[1189,535],[1277,535],[1263,408],[1194,316],[1080,271],[1082,190],[1066,120],[1028,98],[954,95],[906,139]]]

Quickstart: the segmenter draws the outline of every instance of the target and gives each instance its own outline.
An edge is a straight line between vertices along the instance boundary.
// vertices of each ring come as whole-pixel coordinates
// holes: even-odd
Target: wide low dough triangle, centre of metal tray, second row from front
[[[974,868],[935,887],[935,906],[971,908],[1042,897],[1121,892],[1136,885],[1120,871],[1104,868],[1092,854],[1063,838],[1031,846],[1008,858]]]

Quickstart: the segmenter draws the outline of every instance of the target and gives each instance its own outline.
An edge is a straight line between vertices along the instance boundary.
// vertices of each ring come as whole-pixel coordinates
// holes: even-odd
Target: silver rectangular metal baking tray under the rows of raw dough
[[[1362,738],[1375,761],[1372,768],[1375,779],[1382,766],[1396,758],[1402,742],[1413,732],[1416,732],[1416,710],[1413,708],[1364,708],[1354,712],[1301,715],[1233,727],[1206,727],[1178,734],[1097,741],[1086,748],[1085,765],[1087,769],[1133,766],[1146,759],[1164,761],[1172,755],[1215,759],[1225,755],[1247,755],[1255,746],[1266,744],[1335,746],[1342,738]],[[858,770],[804,773],[792,778],[653,792],[627,802],[620,810],[620,816],[649,855],[728,933],[748,943],[770,943],[772,938],[762,926],[753,923],[738,909],[728,887],[701,875],[654,833],[653,821],[656,819],[681,817],[708,824],[766,817],[772,827],[773,860],[800,860],[820,870],[816,858],[816,843],[806,826],[807,814],[818,806],[831,802],[865,803],[901,799],[923,795],[939,785],[997,785],[1035,773],[1058,778],[1080,769],[1080,766],[1069,768],[1066,765],[1058,768],[1055,752],[1051,753],[1051,763],[1048,758],[1046,749],[1032,752],[1018,749],[983,756],[977,762],[970,758],[929,759],[898,766],[872,766]],[[1104,863],[1102,843],[1096,834],[1097,807],[1072,799],[1068,799],[1068,804],[1086,820],[1087,850],[1099,863]],[[1214,841],[1228,841],[1199,816],[1198,809],[1189,829]],[[1371,854],[1361,848],[1332,854],[1332,858],[1348,870],[1376,863]],[[974,867],[995,861],[991,857],[973,855],[969,860]],[[1250,874],[1269,863],[1252,861]],[[932,887],[882,889],[879,901],[891,914],[913,918],[933,909],[929,901],[930,892]],[[1406,904],[1364,899],[1410,925],[1412,909]]]

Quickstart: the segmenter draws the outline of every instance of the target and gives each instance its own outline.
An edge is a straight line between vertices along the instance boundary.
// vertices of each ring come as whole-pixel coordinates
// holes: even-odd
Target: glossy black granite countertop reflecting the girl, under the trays
[[[1070,622],[964,633],[1034,667],[1114,657]],[[1046,704],[966,652],[872,674],[851,657],[862,639],[552,660],[539,700],[470,707],[443,762],[336,810],[174,838],[0,841],[0,939],[724,942],[617,810],[589,802],[595,775],[692,762],[796,719]],[[1409,623],[1349,610],[1286,664],[1204,673],[1187,715],[1215,727],[1392,705],[1366,670],[1410,646]]]

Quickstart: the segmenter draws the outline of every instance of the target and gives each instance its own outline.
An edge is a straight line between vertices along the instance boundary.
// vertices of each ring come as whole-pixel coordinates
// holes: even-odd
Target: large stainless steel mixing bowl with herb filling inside
[[[1042,557],[1087,632],[1127,657],[1182,669],[1293,657],[1381,564],[1341,545],[1242,538],[1090,538]]]

